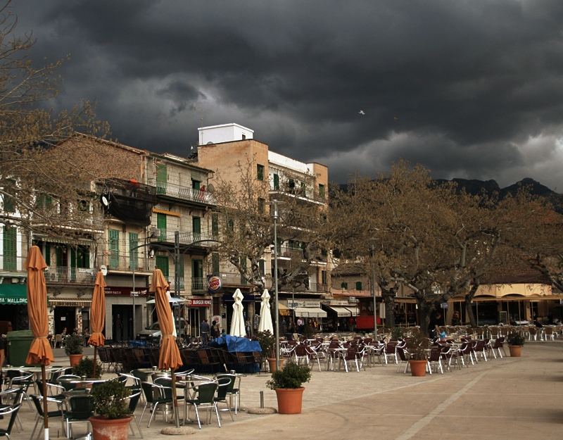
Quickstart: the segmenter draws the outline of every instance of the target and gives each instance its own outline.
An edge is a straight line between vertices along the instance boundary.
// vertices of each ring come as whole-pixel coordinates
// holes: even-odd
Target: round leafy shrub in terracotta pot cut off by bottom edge
[[[129,422],[129,389],[117,380],[108,380],[94,386],[94,416],[90,417],[94,440],[127,440]]]

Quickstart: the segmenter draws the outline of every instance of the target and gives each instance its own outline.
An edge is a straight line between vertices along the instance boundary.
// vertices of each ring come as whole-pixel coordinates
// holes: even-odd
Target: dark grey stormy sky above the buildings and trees
[[[237,122],[333,182],[399,158],[434,177],[563,192],[561,0],[14,0],[34,58],[70,54],[53,105],[186,154]],[[362,113],[365,114],[361,114]]]

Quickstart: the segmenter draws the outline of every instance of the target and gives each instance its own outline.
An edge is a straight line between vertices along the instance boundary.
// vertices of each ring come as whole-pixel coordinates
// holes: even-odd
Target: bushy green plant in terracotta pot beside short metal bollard
[[[289,362],[281,369],[272,373],[272,379],[266,386],[276,391],[277,408],[280,414],[300,414],[303,406],[304,382],[311,379],[311,371],[307,365]]]

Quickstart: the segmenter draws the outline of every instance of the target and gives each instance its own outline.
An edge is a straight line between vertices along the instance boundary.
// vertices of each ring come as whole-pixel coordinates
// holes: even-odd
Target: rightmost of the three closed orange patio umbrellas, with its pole
[[[174,370],[182,366],[182,358],[180,351],[176,345],[175,337],[172,336],[174,330],[174,320],[172,319],[172,308],[166,295],[168,283],[164,278],[163,272],[160,269],[153,270],[153,279],[151,282],[151,292],[154,292],[154,299],[156,303],[156,315],[160,323],[160,332],[162,332],[163,339],[160,345],[160,353],[158,354],[158,367],[162,370],[170,368],[170,375],[172,376],[172,400],[174,401],[174,416],[176,420],[176,427],[179,427],[178,415],[178,399],[176,395],[176,379]]]

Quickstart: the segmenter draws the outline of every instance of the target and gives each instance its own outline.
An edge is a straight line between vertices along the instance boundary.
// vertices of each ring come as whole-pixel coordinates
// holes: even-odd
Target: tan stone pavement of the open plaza
[[[60,361],[68,363],[64,358]],[[562,367],[563,341],[529,342],[521,358],[493,358],[426,377],[403,375],[396,365],[375,365],[359,373],[319,372],[315,367],[311,382],[305,384],[301,415],[243,411],[232,422],[222,413],[222,428],[214,419],[201,431],[195,425],[194,438],[560,440]],[[260,391],[264,391],[265,406],[277,406],[274,391],[265,387],[268,377],[265,373],[243,377],[243,407],[259,406]],[[141,409],[139,404],[137,417]],[[20,417],[25,430],[14,432],[14,440],[28,439],[31,433],[33,413],[25,403]],[[163,427],[172,426],[160,415],[149,429],[147,421],[145,415],[145,439],[174,438],[160,434]],[[51,426],[51,439],[56,439],[61,434],[57,432],[60,422],[53,420]],[[76,435],[83,429],[77,427]],[[129,439],[137,438],[129,435]]]

